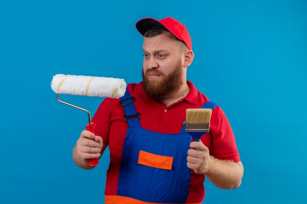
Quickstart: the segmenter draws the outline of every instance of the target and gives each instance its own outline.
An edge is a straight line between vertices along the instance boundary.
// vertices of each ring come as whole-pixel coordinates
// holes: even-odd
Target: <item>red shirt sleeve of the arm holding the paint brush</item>
[[[211,156],[216,159],[240,161],[230,123],[219,106],[212,111],[210,133],[209,152]]]

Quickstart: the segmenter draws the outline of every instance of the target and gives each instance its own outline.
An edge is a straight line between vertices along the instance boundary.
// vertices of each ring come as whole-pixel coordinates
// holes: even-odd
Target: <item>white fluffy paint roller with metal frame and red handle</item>
[[[95,124],[91,122],[90,112],[86,109],[60,100],[59,94],[120,98],[125,94],[126,82],[124,79],[111,77],[56,74],[52,78],[51,89],[56,93],[59,102],[87,112],[88,125],[86,125],[85,128],[95,134]],[[89,165],[98,165],[98,159],[99,158],[88,159]]]

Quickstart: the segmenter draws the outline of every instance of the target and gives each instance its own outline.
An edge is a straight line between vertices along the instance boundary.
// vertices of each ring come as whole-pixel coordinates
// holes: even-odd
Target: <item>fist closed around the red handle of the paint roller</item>
[[[92,132],[83,130],[76,144],[77,156],[83,161],[100,158],[102,145],[101,136],[95,136]]]

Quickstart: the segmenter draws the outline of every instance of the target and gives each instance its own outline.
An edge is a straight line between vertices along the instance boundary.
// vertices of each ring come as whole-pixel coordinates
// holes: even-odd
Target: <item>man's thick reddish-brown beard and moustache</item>
[[[152,72],[160,76],[158,79],[149,79],[148,72]],[[183,84],[181,78],[182,72],[181,61],[179,61],[175,66],[174,71],[167,76],[157,69],[148,69],[146,73],[144,73],[144,69],[142,69],[143,88],[148,97],[153,100],[163,100],[172,96]]]

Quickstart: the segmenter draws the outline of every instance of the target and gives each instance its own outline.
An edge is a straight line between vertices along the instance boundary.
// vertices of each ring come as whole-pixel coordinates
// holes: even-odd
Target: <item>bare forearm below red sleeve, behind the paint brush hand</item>
[[[235,189],[240,186],[243,177],[241,162],[215,159],[210,156],[210,164],[205,177],[222,189]]]

